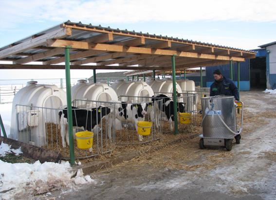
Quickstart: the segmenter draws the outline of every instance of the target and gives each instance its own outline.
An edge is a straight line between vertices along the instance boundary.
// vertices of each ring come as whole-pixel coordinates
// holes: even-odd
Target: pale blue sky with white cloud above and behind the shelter
[[[70,19],[250,50],[276,40],[275,10],[275,0],[0,0],[0,47]],[[62,70],[0,70],[0,79],[61,77]]]

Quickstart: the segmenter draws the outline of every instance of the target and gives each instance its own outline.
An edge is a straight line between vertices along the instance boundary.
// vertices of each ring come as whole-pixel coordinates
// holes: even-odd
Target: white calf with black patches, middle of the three
[[[132,123],[136,131],[138,131],[137,123],[139,121],[145,121],[145,115],[147,114],[147,108],[151,106],[151,103],[127,103],[121,102],[115,105],[115,116],[121,122]],[[138,135],[139,141],[143,140],[142,135]]]

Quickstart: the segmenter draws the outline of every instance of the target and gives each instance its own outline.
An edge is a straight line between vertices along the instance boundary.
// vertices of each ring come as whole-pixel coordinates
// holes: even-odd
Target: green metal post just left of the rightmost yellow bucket
[[[178,134],[177,123],[177,99],[176,99],[176,78],[175,78],[175,55],[171,56],[172,64],[172,87],[173,87],[173,116],[174,116],[174,134]]]

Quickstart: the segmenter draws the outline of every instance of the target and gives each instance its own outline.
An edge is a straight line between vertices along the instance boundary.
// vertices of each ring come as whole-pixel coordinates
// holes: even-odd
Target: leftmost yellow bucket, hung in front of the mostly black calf
[[[75,133],[77,147],[80,149],[88,149],[93,145],[93,132],[90,131],[81,131]]]

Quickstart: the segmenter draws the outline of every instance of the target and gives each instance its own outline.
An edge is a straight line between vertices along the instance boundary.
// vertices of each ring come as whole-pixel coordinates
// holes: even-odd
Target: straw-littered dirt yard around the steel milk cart
[[[276,95],[241,92],[241,100],[242,139],[231,152],[199,149],[195,138],[92,173],[95,182],[47,198],[275,200]]]

